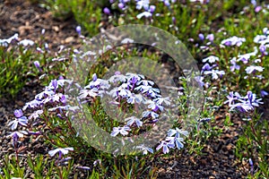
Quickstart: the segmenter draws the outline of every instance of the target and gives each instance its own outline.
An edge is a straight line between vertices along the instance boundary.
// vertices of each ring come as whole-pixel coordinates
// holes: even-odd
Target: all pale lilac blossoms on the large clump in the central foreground
[[[52,80],[45,87],[45,89],[37,94],[33,100],[27,102],[22,109],[14,111],[15,120],[10,122],[10,126],[13,130],[17,129],[18,125],[24,127],[39,124],[40,120],[45,115],[54,115],[61,119],[67,119],[69,117],[68,111],[79,111],[80,106],[71,107],[68,104],[69,97],[64,92],[68,90],[69,86],[72,86],[74,81],[65,80],[60,77],[58,80]],[[153,81],[146,79],[142,74],[135,74],[127,72],[126,74],[121,74],[120,72],[115,72],[115,75],[111,76],[108,80],[103,80],[97,77],[96,74],[92,75],[92,80],[85,86],[81,87],[77,85],[79,90],[78,101],[82,103],[88,103],[95,98],[103,98],[108,95],[112,100],[110,104],[115,107],[134,107],[134,111],[138,114],[138,106],[145,106],[145,110],[140,114],[140,116],[129,116],[124,119],[125,124],[121,126],[114,126],[111,136],[117,136],[121,134],[123,136],[128,135],[135,129],[139,129],[146,124],[156,124],[162,112],[164,112],[165,107],[169,107],[170,101],[168,97],[162,97],[161,91],[156,88]],[[112,89],[111,89],[112,88]],[[124,104],[121,106],[121,104]],[[25,111],[30,109],[32,114],[28,117],[24,116],[22,110]],[[44,113],[46,111],[46,113]],[[50,117],[50,116],[47,116]],[[134,130],[133,130],[134,129]],[[23,133],[40,135],[41,131],[32,132],[13,132],[13,141],[17,142],[18,138],[23,136]],[[179,135],[182,133],[187,135],[187,132],[181,131],[178,128],[176,130],[170,129],[168,132],[168,137],[165,141],[161,141],[161,145],[157,149],[161,149],[164,153],[168,153],[169,148],[174,148],[177,146],[178,149],[183,148],[183,138]],[[174,142],[174,145],[172,144]],[[169,143],[169,145],[165,145]],[[143,147],[143,154],[145,154],[144,149],[153,152],[153,149],[148,147]],[[59,154],[57,161],[66,161],[63,156],[68,153],[68,151],[74,150],[74,148],[67,146],[66,148],[58,148],[48,151],[50,156],[55,156],[56,153]]]

